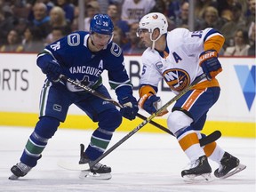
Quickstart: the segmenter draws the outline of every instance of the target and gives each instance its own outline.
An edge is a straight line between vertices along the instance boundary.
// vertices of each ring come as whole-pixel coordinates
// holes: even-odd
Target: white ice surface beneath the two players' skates
[[[31,128],[0,126],[0,191],[88,191],[88,192],[255,192],[255,139],[222,137],[219,145],[239,157],[247,168],[226,180],[188,184],[180,172],[188,157],[177,140],[167,133],[136,132],[121,146],[101,160],[112,167],[111,180],[81,180],[78,171],[58,166],[58,161],[77,163],[79,145],[89,143],[92,130],[60,129],[44,149],[37,166],[20,180],[8,180],[10,168],[18,163],[22,150],[33,131]],[[110,146],[128,132],[116,132]],[[218,164],[210,161],[212,171]],[[214,178],[212,174],[212,178]]]

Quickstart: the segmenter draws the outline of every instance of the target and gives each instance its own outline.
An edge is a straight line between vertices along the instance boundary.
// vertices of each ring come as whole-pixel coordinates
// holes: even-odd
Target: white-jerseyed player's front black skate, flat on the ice
[[[206,156],[200,156],[195,162],[190,164],[188,170],[181,172],[181,177],[188,182],[211,181],[212,168]]]

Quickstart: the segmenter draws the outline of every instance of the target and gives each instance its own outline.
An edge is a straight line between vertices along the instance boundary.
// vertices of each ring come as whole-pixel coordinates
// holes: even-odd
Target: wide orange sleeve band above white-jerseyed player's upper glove
[[[204,42],[204,51],[216,50],[217,52],[220,52],[224,42],[224,36],[212,36],[210,39]]]

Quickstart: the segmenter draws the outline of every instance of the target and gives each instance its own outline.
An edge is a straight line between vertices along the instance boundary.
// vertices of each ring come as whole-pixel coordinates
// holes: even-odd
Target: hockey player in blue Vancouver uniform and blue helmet
[[[137,100],[132,96],[132,84],[124,68],[123,52],[112,42],[113,28],[108,15],[96,14],[91,20],[90,33],[74,32],[47,45],[44,52],[38,54],[36,64],[47,76],[40,97],[39,121],[28,138],[20,163],[11,168],[13,174],[10,180],[25,176],[36,166],[47,141],[57,131],[60,122],[65,121],[71,104],[81,108],[99,125],[92,133],[88,147],[84,150],[84,145],[81,145],[79,164],[90,164],[103,154],[113,132],[122,123],[122,116],[130,120],[135,118]],[[109,84],[124,106],[120,112],[113,104],[59,78],[63,74],[110,97],[100,76],[104,70],[108,71]],[[111,168],[100,163],[91,167],[91,172],[105,174],[105,179],[111,178]]]

